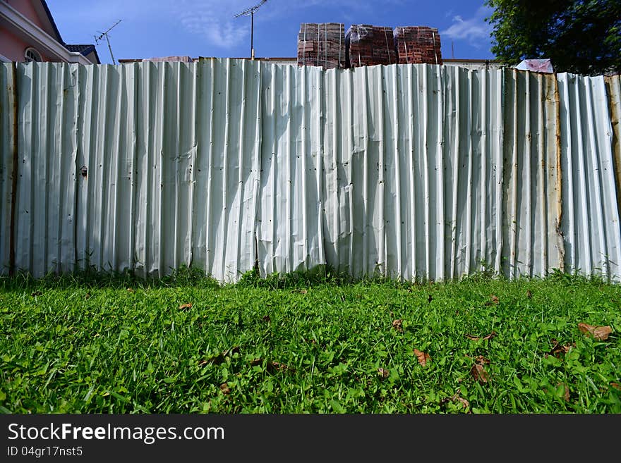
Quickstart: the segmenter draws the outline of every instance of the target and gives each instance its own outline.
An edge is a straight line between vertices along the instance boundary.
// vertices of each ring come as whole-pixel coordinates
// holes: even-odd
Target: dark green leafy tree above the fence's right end
[[[492,52],[507,65],[550,58],[557,72],[621,73],[621,0],[487,0]]]

